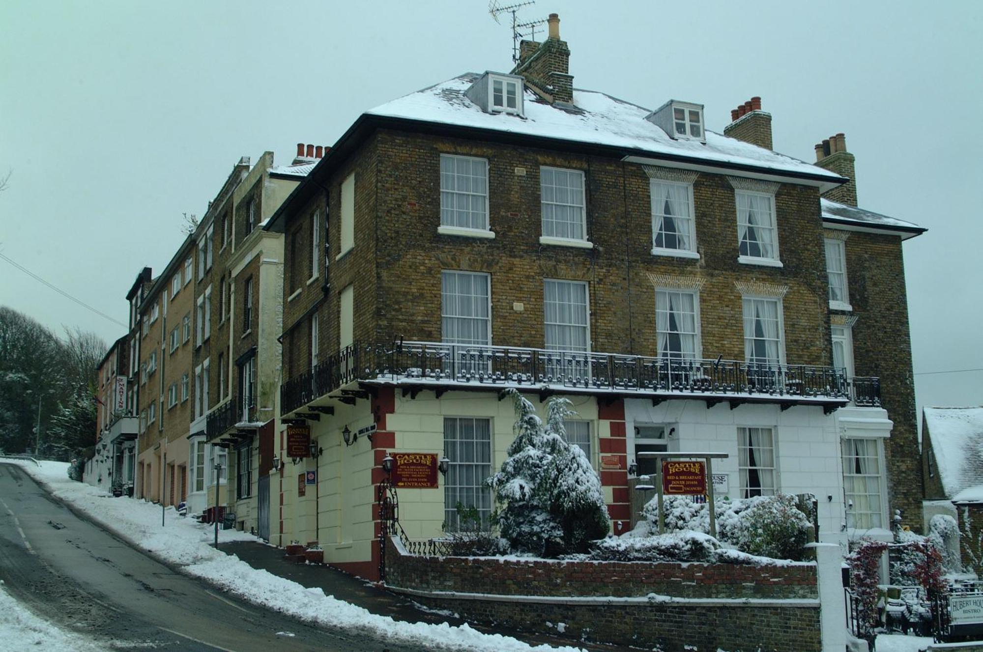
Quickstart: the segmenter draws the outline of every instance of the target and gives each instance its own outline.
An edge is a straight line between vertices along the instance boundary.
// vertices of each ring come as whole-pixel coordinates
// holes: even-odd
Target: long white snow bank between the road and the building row
[[[532,646],[508,636],[486,634],[468,625],[404,623],[388,616],[378,616],[362,607],[324,595],[319,588],[304,588],[297,582],[254,569],[235,555],[216,551],[208,545],[213,536],[208,526],[178,516],[173,509],[163,511],[165,524],[161,526],[159,506],[133,498],[113,498],[96,487],[70,480],[65,462],[40,462],[40,466],[27,461],[15,463],[23,466],[55,497],[111,527],[135,545],[182,567],[189,574],[207,579],[230,593],[269,609],[321,625],[370,629],[379,636],[425,645],[430,649],[580,651],[577,647]],[[219,546],[223,541],[233,540],[259,541],[257,537],[244,532],[219,530]]]

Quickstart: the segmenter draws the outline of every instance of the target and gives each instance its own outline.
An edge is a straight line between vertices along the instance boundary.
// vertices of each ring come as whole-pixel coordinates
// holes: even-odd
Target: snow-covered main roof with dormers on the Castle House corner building
[[[465,91],[481,76],[466,73],[404,95],[367,115],[425,121],[515,135],[568,140],[631,151],[633,155],[675,156],[704,164],[750,166],[774,172],[808,175],[832,185],[842,178],[828,170],[757,145],[707,131],[707,142],[670,138],[645,119],[652,111],[594,90],[574,89],[573,107],[551,105],[525,90],[525,117],[485,113]]]

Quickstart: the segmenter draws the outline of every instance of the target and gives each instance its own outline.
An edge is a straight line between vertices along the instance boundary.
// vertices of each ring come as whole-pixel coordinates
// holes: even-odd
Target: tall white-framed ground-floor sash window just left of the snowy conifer
[[[477,437],[472,439],[463,439],[460,437],[462,422],[471,421],[472,433],[476,432],[476,424],[479,421],[488,423],[488,441],[483,441]],[[455,429],[456,435],[453,439],[447,436],[448,425],[453,422],[453,427]],[[443,517],[447,526],[448,531],[455,531],[460,523],[457,516],[456,503],[459,501],[464,505],[464,507],[472,507],[466,504],[465,501],[461,500],[462,493],[467,493],[471,490],[475,493],[478,500],[476,503],[482,503],[481,505],[474,505],[478,509],[479,515],[482,517],[482,525],[487,528],[490,525],[490,520],[492,516],[492,488],[489,487],[485,480],[488,476],[492,475],[492,440],[494,439],[494,429],[493,429],[492,419],[490,417],[475,417],[475,416],[445,416],[443,419],[443,432],[444,432],[444,456],[450,461],[450,467],[447,469],[447,473],[444,475],[443,481]],[[479,446],[487,445],[487,455],[480,456]],[[466,456],[462,455],[462,451],[469,447],[471,448],[472,455]],[[465,460],[464,458],[470,457],[471,460]],[[487,462],[479,462],[479,457],[487,457]],[[463,484],[459,483],[458,480],[461,479],[461,468],[469,466],[471,467],[472,473],[475,475],[474,484]],[[484,467],[484,468],[483,468]],[[478,475],[484,474],[483,471],[487,471],[488,475],[486,477],[477,477]],[[465,475],[467,475],[465,473]],[[462,492],[461,490],[465,490]],[[451,500],[454,504],[450,504]]]

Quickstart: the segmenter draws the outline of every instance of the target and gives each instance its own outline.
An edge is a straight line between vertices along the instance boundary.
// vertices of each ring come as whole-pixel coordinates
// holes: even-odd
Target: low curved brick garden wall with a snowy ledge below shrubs
[[[562,623],[566,636],[663,652],[822,648],[816,567],[810,564],[436,558],[406,555],[390,541],[385,583],[468,620],[548,633]],[[652,593],[671,597],[645,600]]]

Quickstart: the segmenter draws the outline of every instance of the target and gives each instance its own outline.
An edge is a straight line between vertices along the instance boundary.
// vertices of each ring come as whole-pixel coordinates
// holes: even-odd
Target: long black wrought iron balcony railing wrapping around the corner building
[[[280,411],[304,407],[353,381],[881,405],[877,378],[847,377],[844,369],[835,367],[397,342],[355,344],[329,356],[280,388]]]

